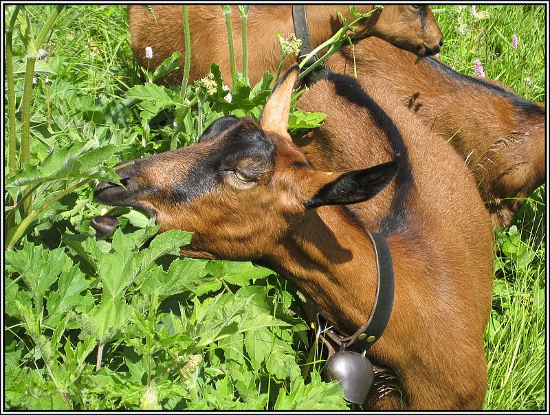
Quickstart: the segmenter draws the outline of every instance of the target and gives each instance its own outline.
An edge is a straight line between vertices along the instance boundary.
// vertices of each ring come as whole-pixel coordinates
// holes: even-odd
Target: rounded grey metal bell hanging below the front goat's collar
[[[374,369],[363,355],[344,350],[329,357],[325,376],[328,381],[338,381],[347,401],[362,405],[373,385]]]

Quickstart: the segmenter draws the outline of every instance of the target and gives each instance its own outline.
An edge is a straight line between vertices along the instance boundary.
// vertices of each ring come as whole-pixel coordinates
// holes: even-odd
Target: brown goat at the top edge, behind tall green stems
[[[142,5],[128,7],[131,46],[142,67],[155,69],[173,52],[184,52],[184,32],[181,5],[153,5],[153,12]],[[361,10],[372,10],[372,5],[362,5]],[[307,20],[312,46],[318,47],[342,27],[337,12],[349,17],[344,5],[307,5]],[[237,70],[242,71],[241,19],[236,6],[232,6],[231,21],[234,36],[234,52]],[[229,45],[225,20],[219,5],[189,6],[191,39],[191,64],[189,80],[196,80],[210,72],[212,62],[219,63],[225,82],[230,84]],[[248,14],[248,76],[254,85],[265,71],[276,73],[281,62],[281,52],[276,32],[287,38],[294,32],[292,6],[252,5]],[[386,5],[375,12],[357,30],[358,36],[379,36],[410,50],[419,56],[436,54],[443,43],[443,35],[426,5]],[[153,58],[147,59],[145,48],[153,49]],[[284,68],[296,63],[296,56],[289,56]],[[168,84],[181,83],[183,69],[165,78]]]

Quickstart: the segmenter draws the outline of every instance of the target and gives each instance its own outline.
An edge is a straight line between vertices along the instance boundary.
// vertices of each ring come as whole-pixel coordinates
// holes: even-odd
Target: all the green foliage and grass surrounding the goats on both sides
[[[8,6],[8,18],[13,10]],[[17,137],[28,48],[56,8],[24,10],[12,32],[14,124],[5,122],[6,135]],[[445,35],[440,57],[466,74],[479,57],[487,76],[542,100],[543,10],[478,6],[489,17],[475,19],[466,8],[460,34],[458,6],[437,6]],[[299,293],[272,271],[178,258],[191,235],[155,236],[158,227],[137,210],[121,208],[119,229],[106,240],[95,237],[89,223],[102,206],[92,197],[94,183],[118,181],[112,166],[193,144],[223,115],[258,120],[274,80],[266,72],[250,86],[236,74],[228,91],[214,64],[212,75],[184,95],[180,87],[156,85],[178,67],[179,54],[153,73],[142,71],[125,14],[120,6],[65,7],[40,42],[46,53],[30,74],[36,84],[26,88],[29,158],[23,160],[19,144],[5,144],[6,154],[18,150],[17,168],[5,177],[6,231],[19,233],[5,251],[5,408],[346,409],[336,383],[316,370],[303,379],[309,339]],[[520,39],[516,52],[512,33]],[[289,131],[315,128],[324,117],[293,109]],[[30,187],[25,200],[32,199],[34,216],[25,216]],[[544,201],[542,187],[513,226],[495,232],[487,409],[545,405]]]

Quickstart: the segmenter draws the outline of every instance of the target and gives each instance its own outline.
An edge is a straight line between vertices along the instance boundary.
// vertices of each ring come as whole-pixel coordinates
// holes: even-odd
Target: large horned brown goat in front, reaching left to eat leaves
[[[102,182],[96,200],[140,207],[162,231],[195,232],[185,256],[272,267],[344,335],[364,324],[375,298],[365,229],[384,234],[395,301],[367,355],[404,396],[382,396],[387,377],[375,379],[365,407],[481,408],[492,233],[472,176],[377,80],[365,83],[370,96],[344,75],[305,92],[300,108],[329,117],[296,146],[287,133],[296,76],[296,67],[283,76],[259,125],[222,117],[197,144],[119,170],[126,188]]]

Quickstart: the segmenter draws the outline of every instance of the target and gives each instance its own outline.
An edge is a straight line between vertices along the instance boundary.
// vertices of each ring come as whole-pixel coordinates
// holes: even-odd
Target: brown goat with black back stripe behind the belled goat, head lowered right
[[[502,82],[465,76],[377,38],[329,57],[331,70],[386,80],[401,103],[458,151],[478,183],[492,225],[509,225],[525,197],[544,182],[544,104]]]

